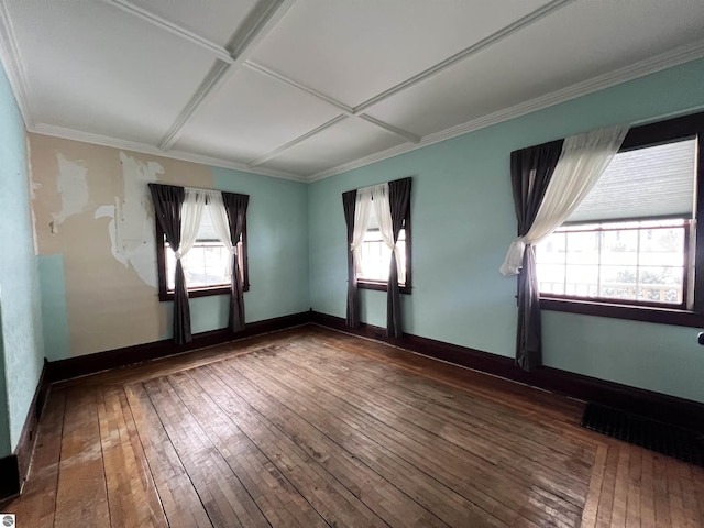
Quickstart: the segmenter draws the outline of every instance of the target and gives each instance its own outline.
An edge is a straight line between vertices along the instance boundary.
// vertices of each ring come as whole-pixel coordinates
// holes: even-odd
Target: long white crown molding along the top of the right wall
[[[613,86],[620,85],[639,77],[645,77],[646,75],[654,74],[667,68],[679,66],[681,64],[689,63],[690,61],[696,61],[702,57],[704,57],[704,40],[676,47],[670,52],[656,55],[645,61],[639,61],[631,64],[630,66],[619,68],[618,70],[609,72],[607,74],[603,74],[597,77],[584,80],[582,82],[576,82],[572,86],[562,88],[551,94],[547,94],[529,101],[515,105],[507,109],[490,113],[488,116],[483,116],[465,123],[461,123],[455,127],[451,127],[449,129],[425,135],[421,138],[419,143],[404,143],[402,145],[387,148],[386,151],[377,152],[375,154],[372,154],[371,156],[366,156],[360,160],[355,160],[354,162],[345,163],[342,165],[338,165],[337,167],[321,170],[317,174],[310,175],[308,178],[306,178],[306,182],[317,182],[319,179],[324,179],[337,174],[345,173],[354,168],[360,168],[372,163],[387,160],[389,157],[398,156],[407,152],[416,151],[418,148],[432,145],[433,143],[439,143],[441,141],[450,140],[459,135],[475,132],[480,129],[484,129],[493,124],[498,124],[510,119],[519,118],[521,116],[526,116],[528,113],[536,112],[538,110],[542,110],[561,102],[576,99],[578,97],[586,96],[598,90],[610,88]]]

